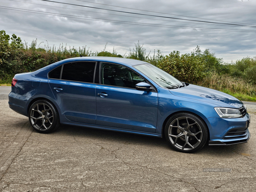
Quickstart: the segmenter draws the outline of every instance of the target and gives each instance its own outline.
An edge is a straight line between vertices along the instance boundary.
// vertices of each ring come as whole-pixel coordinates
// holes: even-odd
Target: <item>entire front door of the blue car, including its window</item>
[[[133,70],[101,64],[101,84],[96,86],[96,124],[154,133],[157,126],[157,92],[135,89],[145,82]]]

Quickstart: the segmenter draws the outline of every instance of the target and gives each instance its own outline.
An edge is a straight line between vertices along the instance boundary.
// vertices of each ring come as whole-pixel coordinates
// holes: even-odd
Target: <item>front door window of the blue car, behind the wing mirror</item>
[[[139,82],[146,82],[143,77],[135,73],[131,69],[109,63],[102,63],[101,69],[101,81],[102,84],[134,88]]]

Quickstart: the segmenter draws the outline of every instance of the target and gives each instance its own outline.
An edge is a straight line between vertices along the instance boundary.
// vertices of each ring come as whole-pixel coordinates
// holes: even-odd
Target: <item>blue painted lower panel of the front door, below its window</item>
[[[108,96],[101,97],[98,93]],[[97,85],[97,125],[154,133],[157,126],[157,93]]]

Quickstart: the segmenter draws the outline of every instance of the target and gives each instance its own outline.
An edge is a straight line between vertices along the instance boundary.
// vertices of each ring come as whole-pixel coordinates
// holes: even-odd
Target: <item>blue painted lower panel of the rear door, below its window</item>
[[[49,86],[67,119],[95,124],[96,84],[49,79]],[[54,88],[62,90],[55,90]]]

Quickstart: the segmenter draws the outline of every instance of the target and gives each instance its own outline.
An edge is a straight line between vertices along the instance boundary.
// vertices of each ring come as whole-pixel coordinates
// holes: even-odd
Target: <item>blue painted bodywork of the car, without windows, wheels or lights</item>
[[[51,70],[73,61],[123,65],[147,79],[156,91],[48,78]],[[214,107],[241,108],[243,103],[233,96],[192,84],[170,90],[159,87],[133,67],[138,64],[145,62],[124,58],[81,57],[58,61],[35,72],[16,74],[15,79],[18,81],[9,94],[9,106],[17,113],[28,116],[33,101],[47,99],[55,105],[61,124],[154,137],[162,137],[164,122],[182,111],[194,113],[204,120],[209,129],[210,141],[227,142],[223,138],[228,131],[247,128],[248,113],[241,118],[224,119],[214,110]],[[248,131],[243,139],[249,137]],[[240,140],[229,141],[239,143]]]

